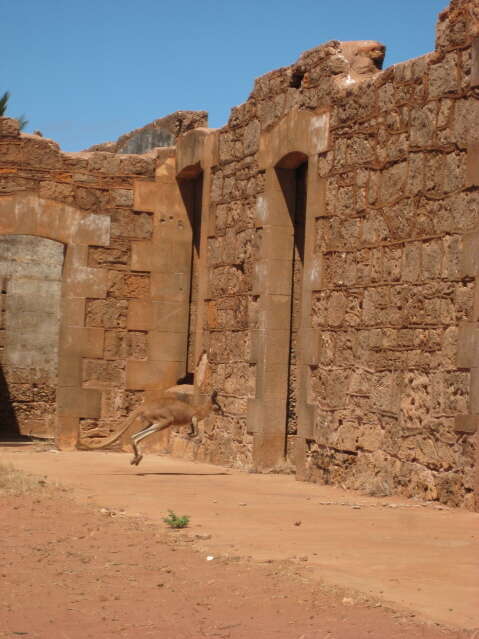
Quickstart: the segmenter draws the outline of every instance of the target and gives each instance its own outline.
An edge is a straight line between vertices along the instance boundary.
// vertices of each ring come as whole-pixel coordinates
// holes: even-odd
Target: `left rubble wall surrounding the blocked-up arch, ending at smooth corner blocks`
[[[3,118],[0,122],[0,263],[11,262],[8,250],[15,239],[11,233],[24,233],[29,240],[20,258],[23,268],[26,262],[40,260],[34,241],[39,238],[32,236],[63,241],[60,344],[73,353],[83,350],[86,356],[75,358],[67,353],[59,363],[60,384],[66,385],[60,393],[59,410],[68,419],[60,419],[58,428],[68,430],[72,418],[79,422],[82,438],[101,437],[116,430],[140,399],[138,391],[128,388],[127,362],[146,358],[146,333],[128,330],[127,316],[131,300],[149,295],[150,281],[149,274],[132,270],[130,262],[132,245],[151,237],[152,214],[133,210],[133,193],[135,180],[153,175],[155,158],[61,153],[50,140],[19,134],[15,121]],[[74,232],[78,240],[72,239]],[[73,245],[76,241],[78,245]],[[62,256],[63,250],[62,246]],[[36,271],[39,275],[40,267]],[[4,275],[3,280],[13,285],[8,273]],[[50,310],[53,307],[52,301]],[[25,339],[35,341],[44,322],[39,312],[31,319],[25,326]],[[28,366],[35,370],[34,364]],[[22,388],[36,383],[33,373],[14,379],[8,366],[3,374],[12,400],[18,399],[17,382],[22,382]],[[55,386],[49,400],[55,391],[58,400]],[[68,392],[70,388],[77,389],[77,400]],[[85,389],[84,396],[81,389]],[[88,394],[87,389],[97,393]],[[13,404],[15,409],[15,401]],[[51,401],[47,412],[53,420]],[[71,443],[75,441],[73,432]]]

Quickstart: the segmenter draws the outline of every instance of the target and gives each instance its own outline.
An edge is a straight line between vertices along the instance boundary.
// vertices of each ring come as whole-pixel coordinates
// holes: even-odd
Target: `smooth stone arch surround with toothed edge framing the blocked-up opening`
[[[62,448],[75,447],[80,418],[100,416],[101,393],[82,388],[84,357],[103,356],[103,329],[84,324],[85,300],[104,298],[106,273],[88,267],[88,246],[108,246],[110,218],[21,193],[0,199],[0,236],[46,238],[65,246],[61,277],[55,437]]]

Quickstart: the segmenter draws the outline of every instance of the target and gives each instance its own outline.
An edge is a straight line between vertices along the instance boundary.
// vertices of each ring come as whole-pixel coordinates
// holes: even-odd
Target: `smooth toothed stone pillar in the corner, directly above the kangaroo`
[[[132,270],[151,272],[151,297],[129,304],[128,329],[148,331],[148,359],[127,362],[127,388],[148,391],[176,384],[186,365],[192,232],[172,150],[155,181],[138,180],[134,193],[134,208],[153,212],[154,227],[151,240],[132,245]]]

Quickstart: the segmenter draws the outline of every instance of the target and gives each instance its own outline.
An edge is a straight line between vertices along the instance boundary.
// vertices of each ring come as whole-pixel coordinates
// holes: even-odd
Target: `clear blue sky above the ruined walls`
[[[448,0],[0,0],[0,95],[66,151],[179,109],[219,127],[254,78],[328,40],[379,40],[385,66],[434,48]]]

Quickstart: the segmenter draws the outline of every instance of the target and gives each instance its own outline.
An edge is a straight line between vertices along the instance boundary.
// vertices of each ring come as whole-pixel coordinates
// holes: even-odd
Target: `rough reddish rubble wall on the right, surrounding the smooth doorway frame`
[[[259,380],[251,336],[264,313],[255,273],[268,230],[258,221],[258,153],[286,114],[327,112],[320,186],[308,194],[318,208],[314,273],[306,274],[315,284],[302,327],[314,351],[313,425],[298,443],[297,470],[371,494],[474,507],[477,364],[458,356],[477,319],[475,267],[464,267],[475,259],[468,234],[479,224],[474,11],[475,2],[453,2],[437,50],[383,72],[378,43],[306,52],[259,78],[216,133],[205,330],[225,415],[207,420],[200,458],[252,464],[248,402]]]

